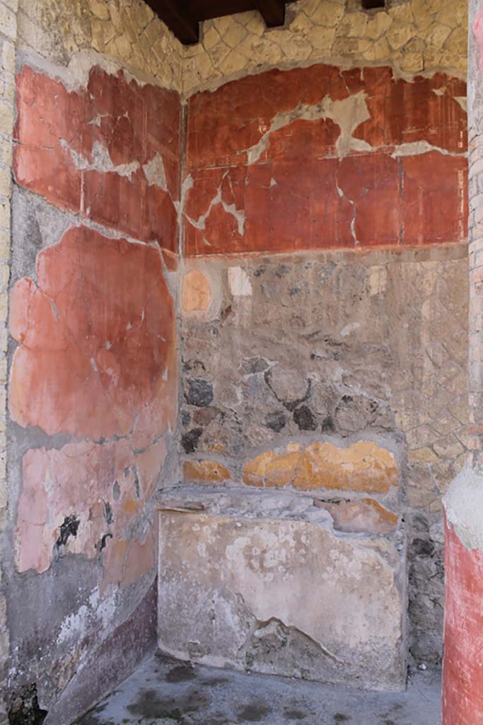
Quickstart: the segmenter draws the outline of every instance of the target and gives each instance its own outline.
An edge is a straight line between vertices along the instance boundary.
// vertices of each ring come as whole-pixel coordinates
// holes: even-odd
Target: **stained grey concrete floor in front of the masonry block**
[[[440,699],[432,671],[407,692],[361,692],[156,655],[77,725],[440,725]]]

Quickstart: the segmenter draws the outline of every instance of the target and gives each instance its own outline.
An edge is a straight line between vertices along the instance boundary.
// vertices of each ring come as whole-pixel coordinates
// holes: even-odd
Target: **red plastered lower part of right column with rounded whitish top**
[[[483,474],[465,468],[445,506],[442,725],[483,723]]]

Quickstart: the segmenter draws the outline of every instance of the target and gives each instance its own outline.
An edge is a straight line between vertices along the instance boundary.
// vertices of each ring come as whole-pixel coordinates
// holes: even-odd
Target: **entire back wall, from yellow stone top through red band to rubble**
[[[409,651],[438,663],[468,422],[466,2],[287,18],[209,21],[184,51],[183,473],[405,521]],[[361,487],[387,455],[397,500]]]

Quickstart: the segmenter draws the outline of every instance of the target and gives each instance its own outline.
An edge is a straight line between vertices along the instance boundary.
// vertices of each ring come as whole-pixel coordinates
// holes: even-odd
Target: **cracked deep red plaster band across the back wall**
[[[352,148],[337,147],[358,94],[366,118],[345,128]],[[443,73],[409,83],[387,67],[327,65],[196,94],[188,105],[185,254],[462,241],[462,96],[465,84]]]

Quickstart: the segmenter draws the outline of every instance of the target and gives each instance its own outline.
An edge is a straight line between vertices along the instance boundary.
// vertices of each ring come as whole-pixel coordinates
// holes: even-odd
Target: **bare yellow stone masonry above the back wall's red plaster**
[[[203,23],[201,43],[183,49],[182,88],[202,88],[259,72],[329,62],[338,67],[392,65],[397,75],[448,70],[466,78],[466,0],[388,0],[361,10],[359,0],[300,0],[284,28],[267,30],[257,12]]]

